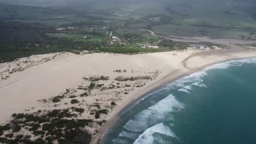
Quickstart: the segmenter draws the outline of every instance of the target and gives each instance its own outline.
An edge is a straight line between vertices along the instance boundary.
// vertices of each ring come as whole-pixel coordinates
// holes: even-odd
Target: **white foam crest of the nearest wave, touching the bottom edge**
[[[153,144],[153,142],[154,142],[153,134],[154,133],[159,133],[159,134],[177,138],[177,136],[171,131],[170,128],[167,127],[167,125],[160,123],[160,124],[154,125],[151,128],[148,128],[146,131],[144,131],[144,133],[141,134],[133,144],[141,144],[141,143]]]

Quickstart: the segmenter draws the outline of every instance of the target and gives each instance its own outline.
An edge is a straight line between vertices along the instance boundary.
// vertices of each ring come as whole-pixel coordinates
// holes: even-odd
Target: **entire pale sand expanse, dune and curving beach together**
[[[75,106],[85,109],[77,118],[106,121],[103,125],[96,124],[88,128],[94,136],[91,143],[96,144],[122,111],[155,89],[212,64],[256,57],[256,51],[235,45],[235,40],[215,42],[228,45],[230,49],[140,55],[74,55],[64,52],[0,64],[0,73],[4,77],[0,81],[0,124],[10,121],[12,113],[69,109]],[[255,41],[242,41],[252,42]],[[90,89],[92,83],[95,86]],[[57,95],[64,96],[53,103],[51,100]],[[70,104],[70,97],[80,103]],[[97,110],[107,110],[108,113],[96,118],[91,113]]]

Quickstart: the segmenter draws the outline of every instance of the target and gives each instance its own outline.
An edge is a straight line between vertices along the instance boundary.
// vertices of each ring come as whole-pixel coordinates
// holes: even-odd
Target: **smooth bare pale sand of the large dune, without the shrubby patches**
[[[22,112],[31,107],[36,107],[34,111],[48,109],[49,107],[38,104],[37,100],[48,99],[65,92],[67,88],[78,87],[83,76],[117,77],[118,73],[113,73],[113,70],[119,69],[143,73],[153,70],[161,71],[155,80],[147,83],[147,87],[172,71],[182,69],[181,62],[190,54],[191,52],[165,52],[130,56],[108,53],[88,55],[68,53],[54,60],[34,65],[24,71],[10,74],[9,79],[0,82],[0,122],[5,122],[12,113]],[[13,65],[15,64],[13,62]],[[129,76],[129,74],[126,75]],[[130,99],[141,89],[138,88],[126,95],[126,99]],[[124,101],[121,103],[125,103]]]

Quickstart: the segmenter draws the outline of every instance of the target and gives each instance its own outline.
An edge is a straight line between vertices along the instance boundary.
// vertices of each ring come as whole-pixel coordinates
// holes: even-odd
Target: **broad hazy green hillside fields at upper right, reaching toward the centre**
[[[179,25],[244,29],[256,27],[256,21],[249,19],[251,6],[214,0],[198,0],[187,5],[176,5],[172,1],[168,5],[148,2],[130,5],[114,14],[136,20],[144,18],[145,21],[150,17],[165,16],[170,23]]]

